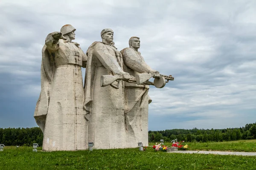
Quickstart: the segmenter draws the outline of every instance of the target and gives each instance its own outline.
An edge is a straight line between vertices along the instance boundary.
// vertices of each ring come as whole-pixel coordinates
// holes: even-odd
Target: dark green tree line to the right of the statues
[[[240,139],[256,139],[256,122],[246,124],[245,127],[227,128],[227,129],[172,129],[160,131],[148,131],[148,142],[160,142],[163,139],[165,142],[171,142],[174,139],[177,141],[186,142],[223,142],[235,141]]]

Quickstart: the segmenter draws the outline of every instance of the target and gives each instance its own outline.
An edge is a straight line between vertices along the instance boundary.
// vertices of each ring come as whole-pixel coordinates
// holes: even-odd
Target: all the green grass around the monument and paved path
[[[186,143],[186,142],[185,142]],[[255,151],[256,141],[186,143],[189,150]],[[226,147],[221,147],[221,146]],[[195,147],[195,148],[193,148]],[[220,149],[218,148],[220,147]],[[253,149],[248,149],[251,147]],[[32,152],[32,147],[4,147],[0,170],[256,170],[256,156],[155,152],[135,149]]]

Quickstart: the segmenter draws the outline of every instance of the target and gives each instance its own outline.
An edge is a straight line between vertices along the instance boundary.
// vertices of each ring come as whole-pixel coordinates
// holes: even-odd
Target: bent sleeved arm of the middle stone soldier
[[[93,55],[99,59],[105,68],[107,68],[109,71],[112,71],[114,74],[125,74],[125,72],[122,71],[122,68],[116,61],[116,58],[108,52],[108,49],[104,44],[100,42],[95,44]]]

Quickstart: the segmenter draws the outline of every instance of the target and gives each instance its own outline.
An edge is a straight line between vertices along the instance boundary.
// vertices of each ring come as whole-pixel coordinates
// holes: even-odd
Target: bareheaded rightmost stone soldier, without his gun
[[[140,38],[131,37],[129,46],[121,51],[124,71],[134,77],[140,73],[159,77],[159,72],[150,68],[138,51]],[[125,82],[126,147],[137,147],[138,142],[148,146],[148,104],[151,102],[148,89],[148,85]]]

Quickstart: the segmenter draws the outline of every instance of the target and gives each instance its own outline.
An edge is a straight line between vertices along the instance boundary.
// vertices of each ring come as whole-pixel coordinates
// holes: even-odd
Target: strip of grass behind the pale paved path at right
[[[155,143],[149,143],[149,145],[154,144]],[[165,142],[164,144],[172,146],[170,142]],[[183,142],[183,145],[185,144],[188,144],[190,147],[187,150],[256,152],[256,139],[231,142]]]

